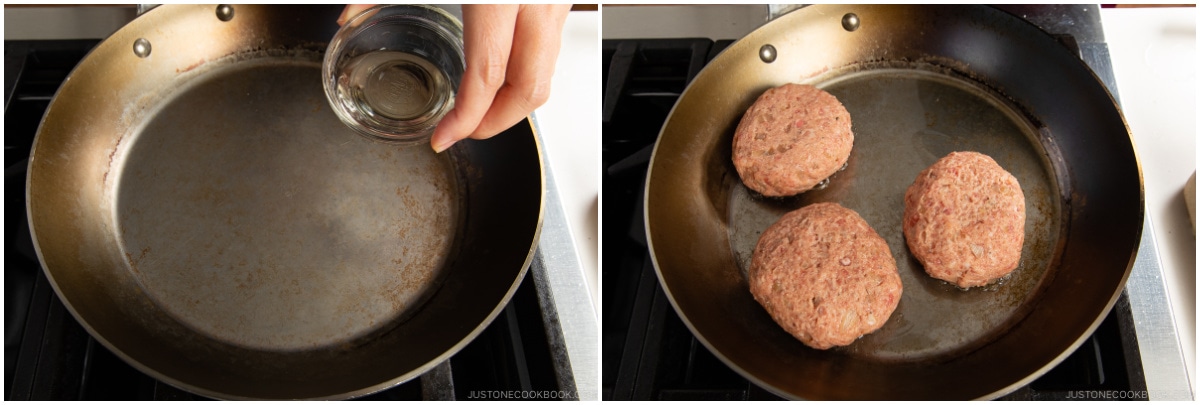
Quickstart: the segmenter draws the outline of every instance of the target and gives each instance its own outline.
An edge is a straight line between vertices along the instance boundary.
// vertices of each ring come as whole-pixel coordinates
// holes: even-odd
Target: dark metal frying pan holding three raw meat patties
[[[732,134],[785,83],[836,96],[854,146],[826,188],[763,198],[733,169]],[[901,232],[905,189],[959,150],[996,158],[1027,200],[1020,266],[967,291],[928,277]],[[1144,216],[1138,157],[1103,84],[1054,37],[973,6],[810,6],[768,23],[680,96],[646,187],[654,265],[688,327],[749,380],[805,399],[995,398],[1033,381],[1108,314]],[[905,286],[880,331],[828,351],[784,332],[745,282],[758,235],[817,201],[862,214]]]

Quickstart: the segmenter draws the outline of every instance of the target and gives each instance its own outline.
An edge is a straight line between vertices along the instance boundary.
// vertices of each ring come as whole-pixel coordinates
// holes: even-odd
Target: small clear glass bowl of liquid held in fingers
[[[416,144],[454,108],[464,68],[457,18],[431,6],[374,6],[334,35],[322,79],[334,113],[355,132]]]

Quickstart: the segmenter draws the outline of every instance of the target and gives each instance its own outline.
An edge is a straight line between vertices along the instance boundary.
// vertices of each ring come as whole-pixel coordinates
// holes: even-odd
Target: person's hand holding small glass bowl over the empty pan
[[[349,5],[347,19],[371,5]],[[463,72],[455,108],[431,138],[437,152],[487,139],[523,120],[550,97],[550,79],[570,5],[463,5]]]

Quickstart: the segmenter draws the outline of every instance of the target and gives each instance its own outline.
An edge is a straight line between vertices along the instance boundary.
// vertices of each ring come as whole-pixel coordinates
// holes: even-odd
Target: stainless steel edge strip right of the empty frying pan
[[[530,114],[529,122],[533,125],[534,134],[541,139],[535,114]],[[546,205],[542,213],[541,238],[529,270],[538,288],[538,303],[542,309],[546,339],[553,351],[556,370],[565,368],[571,371],[570,376],[558,375],[559,388],[571,391],[570,380],[574,380],[574,388],[578,393],[574,399],[600,400],[598,375],[600,331],[590,301],[592,295],[583,279],[583,267],[575,247],[575,237],[571,235],[563,201],[558,195],[558,186],[554,183],[546,143],[541,141],[541,145],[544,145],[542,167],[546,171]]]

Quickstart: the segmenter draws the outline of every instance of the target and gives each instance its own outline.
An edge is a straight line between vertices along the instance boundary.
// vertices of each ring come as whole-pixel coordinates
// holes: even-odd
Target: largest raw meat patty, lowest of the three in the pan
[[[750,292],[787,333],[814,349],[875,332],[900,303],[888,243],[854,211],[820,202],[767,228],[750,259]]]

